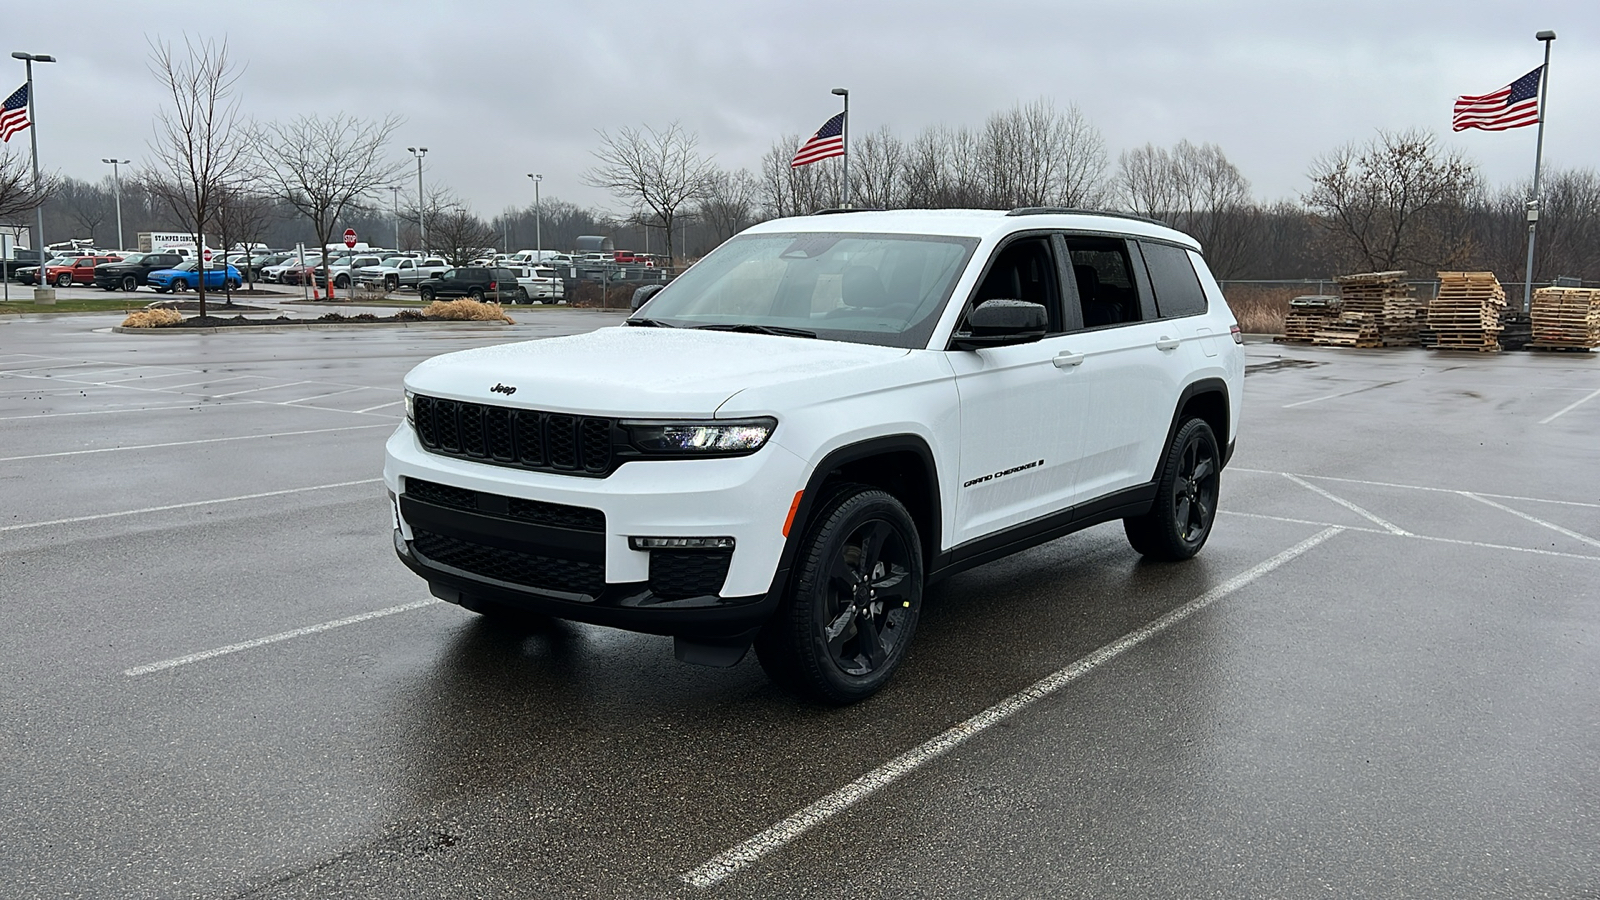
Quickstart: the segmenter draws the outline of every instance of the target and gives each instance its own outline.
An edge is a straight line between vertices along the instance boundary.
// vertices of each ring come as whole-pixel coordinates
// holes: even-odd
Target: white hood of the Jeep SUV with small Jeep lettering
[[[614,327],[434,357],[413,368],[405,384],[419,394],[499,407],[710,416],[749,388],[834,376],[909,352],[776,335]]]

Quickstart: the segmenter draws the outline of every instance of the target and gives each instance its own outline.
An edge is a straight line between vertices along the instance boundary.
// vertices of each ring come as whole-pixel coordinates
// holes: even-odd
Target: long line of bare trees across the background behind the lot
[[[758,221],[837,207],[843,194],[837,159],[790,168],[800,135],[774,139],[755,170],[733,170],[670,123],[598,133],[584,181],[611,192],[622,215],[547,197],[538,210],[483,216],[448,187],[422,199],[408,189],[408,167],[386,157],[395,117],[243,122],[226,42],[186,42],[182,51],[154,43],[150,67],[170,106],[149,160],[122,183],[126,243],[139,231],[197,231],[229,245],[325,245],[355,227],[373,243],[421,247],[426,229],[430,250],[462,263],[486,247],[533,247],[536,232],[546,248],[610,234],[619,247],[682,259]],[[1275,202],[1254,197],[1216,144],[1146,144],[1112,159],[1080,109],[1048,99],[997,110],[981,127],[853,135],[850,151],[854,207],[1126,211],[1195,235],[1222,279],[1486,269],[1512,282],[1525,264],[1531,184],[1490,186],[1469,157],[1422,130],[1333,147],[1307,163],[1299,195]],[[48,234],[115,242],[109,175],[51,178],[38,192],[24,163],[0,157],[0,223],[21,221],[48,195]],[[1547,171],[1539,208],[1534,279],[1600,282],[1600,175]]]

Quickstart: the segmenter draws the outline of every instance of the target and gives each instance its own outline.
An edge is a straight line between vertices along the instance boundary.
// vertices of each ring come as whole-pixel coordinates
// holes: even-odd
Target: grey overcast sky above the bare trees
[[[238,94],[250,117],[402,115],[395,160],[427,146],[427,183],[485,216],[530,203],[530,171],[544,175],[544,197],[621,210],[581,178],[597,130],[624,125],[677,120],[720,167],[755,170],[781,135],[810,135],[837,112],[834,86],[850,88],[858,135],[976,127],[1038,98],[1077,104],[1104,135],[1112,167],[1146,143],[1210,141],[1264,200],[1298,197],[1317,154],[1379,128],[1430,130],[1502,184],[1531,176],[1536,130],[1453,135],[1451,102],[1538,66],[1541,29],[1558,34],[1546,162],[1600,167],[1597,0],[168,0],[43,10],[10,8],[6,50],[59,59],[35,67],[40,157],[75,178],[107,173],[101,157],[147,155],[162,102],[147,38],[181,42],[186,29],[226,37],[248,64]],[[22,64],[10,64],[19,83]],[[13,86],[0,78],[0,96]],[[26,138],[13,138],[11,152],[26,152]]]

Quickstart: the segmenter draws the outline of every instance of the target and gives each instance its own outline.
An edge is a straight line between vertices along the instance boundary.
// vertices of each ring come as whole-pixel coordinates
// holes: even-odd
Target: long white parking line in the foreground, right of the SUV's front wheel
[[[762,860],[768,854],[779,850],[790,844],[795,838],[800,838],[806,831],[816,828],[818,825],[834,818],[835,815],[845,812],[851,806],[861,802],[862,799],[872,796],[874,793],[893,785],[901,777],[922,769],[923,765],[939,759],[941,756],[950,753],[968,738],[979,735],[998,722],[1021,713],[1022,709],[1032,706],[1034,703],[1056,693],[1058,690],[1070,685],[1072,682],[1090,674],[1096,668],[1109,663],[1110,660],[1126,653],[1128,650],[1138,647],[1139,644],[1149,641],[1150,637],[1166,631],[1168,628],[1184,621],[1194,613],[1203,610],[1205,607],[1221,601],[1222,597],[1245,588],[1251,581],[1261,578],[1262,575],[1278,569],[1285,562],[1304,554],[1306,551],[1315,548],[1317,544],[1326,541],[1328,538],[1338,535],[1344,528],[1339,525],[1325,528],[1304,541],[1291,546],[1290,549],[1274,556],[1272,559],[1248,569],[1227,581],[1222,581],[1216,588],[1200,594],[1198,597],[1189,601],[1187,604],[1174,609],[1173,612],[1163,615],[1162,618],[1125,634],[1123,637],[1094,650],[1088,657],[1083,657],[1072,665],[1058,669],[1043,679],[1034,682],[1030,687],[1013,693],[1011,697],[995,703],[994,706],[984,709],[982,713],[957,724],[939,737],[917,746],[894,759],[885,762],[883,765],[867,772],[866,775],[856,778],[854,781],[845,785],[843,788],[827,794],[826,798],[816,801],[814,804],[802,809],[800,812],[790,815],[789,818],[773,825],[771,828],[741,841],[733,847],[717,854],[715,857],[706,860],[699,866],[683,873],[685,882],[694,887],[714,887],[723,881],[733,878],[734,874],[744,871],[750,865]]]

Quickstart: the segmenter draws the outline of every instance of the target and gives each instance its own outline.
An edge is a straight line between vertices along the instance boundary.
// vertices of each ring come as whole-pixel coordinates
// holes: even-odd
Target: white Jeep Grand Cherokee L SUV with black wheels
[[[432,593],[675,637],[846,703],[925,588],[1122,519],[1211,530],[1238,327],[1198,245],[1109,213],[843,211],[758,224],[621,327],[405,378],[384,480]]]

